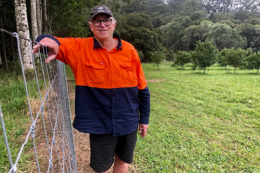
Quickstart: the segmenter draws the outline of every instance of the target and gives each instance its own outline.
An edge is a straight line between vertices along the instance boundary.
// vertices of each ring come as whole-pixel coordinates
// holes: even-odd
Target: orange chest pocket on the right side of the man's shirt
[[[122,69],[122,82],[125,84],[137,84],[135,63],[120,63]]]

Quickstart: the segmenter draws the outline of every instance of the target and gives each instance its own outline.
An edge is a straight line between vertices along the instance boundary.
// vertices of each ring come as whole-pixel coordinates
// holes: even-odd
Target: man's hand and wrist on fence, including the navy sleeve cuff
[[[48,58],[46,58],[46,63],[49,63],[51,60],[55,59],[59,52],[60,42],[54,36],[41,35],[36,39],[36,42],[39,42],[39,44],[33,46],[33,54],[38,53],[39,48],[42,50],[42,45],[45,45],[48,48]]]

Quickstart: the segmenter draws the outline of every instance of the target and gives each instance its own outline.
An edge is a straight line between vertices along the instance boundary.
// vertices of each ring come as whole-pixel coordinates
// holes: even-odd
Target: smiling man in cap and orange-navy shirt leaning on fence
[[[141,137],[147,133],[149,89],[137,51],[113,33],[116,20],[110,9],[94,8],[89,26],[92,38],[41,35],[36,42],[48,47],[47,63],[56,58],[75,75],[73,127],[90,134],[90,167],[108,173],[114,163],[113,173],[127,173],[138,124]]]

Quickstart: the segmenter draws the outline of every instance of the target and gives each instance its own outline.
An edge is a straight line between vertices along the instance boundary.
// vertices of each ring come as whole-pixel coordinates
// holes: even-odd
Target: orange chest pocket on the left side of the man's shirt
[[[105,79],[105,64],[96,62],[86,62],[87,80],[93,84],[100,84]]]

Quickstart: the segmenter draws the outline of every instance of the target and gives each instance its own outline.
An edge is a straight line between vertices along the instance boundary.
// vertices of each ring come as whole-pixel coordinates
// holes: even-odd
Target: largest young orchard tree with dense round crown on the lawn
[[[205,69],[217,61],[218,50],[211,41],[198,41],[195,51],[192,53],[192,70]]]

